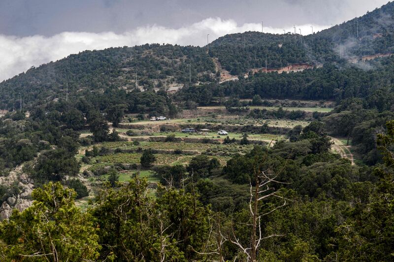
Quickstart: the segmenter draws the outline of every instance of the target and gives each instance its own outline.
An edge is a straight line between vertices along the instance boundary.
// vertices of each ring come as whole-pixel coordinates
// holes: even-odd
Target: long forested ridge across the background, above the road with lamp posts
[[[234,79],[265,69],[265,65],[269,72],[293,70],[291,65],[295,64],[301,65],[295,71],[324,63],[342,67],[361,57],[394,53],[393,14],[394,2],[389,2],[360,18],[308,36],[229,34],[210,43],[208,53],[207,47],[160,44],[85,51],[0,83],[0,109],[18,108],[19,92],[23,107],[28,108],[65,98],[67,83],[70,97],[103,93],[108,87],[127,92],[177,89],[189,85],[189,65],[193,85]]]

